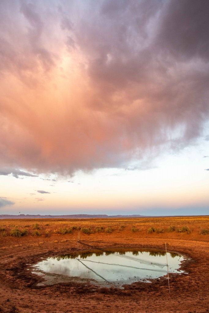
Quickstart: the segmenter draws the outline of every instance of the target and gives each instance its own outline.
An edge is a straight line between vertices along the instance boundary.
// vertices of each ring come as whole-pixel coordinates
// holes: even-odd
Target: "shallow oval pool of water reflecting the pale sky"
[[[182,255],[167,252],[167,258],[170,273],[183,273],[180,270],[185,260]],[[151,282],[151,279],[167,275],[167,261],[165,251],[104,249],[51,257],[32,269],[32,273],[44,278],[39,286],[74,281],[123,288],[124,284]]]

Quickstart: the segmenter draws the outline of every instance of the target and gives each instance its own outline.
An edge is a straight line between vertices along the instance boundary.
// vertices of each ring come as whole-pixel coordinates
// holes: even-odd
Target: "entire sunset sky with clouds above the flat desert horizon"
[[[0,214],[208,214],[208,13],[2,0]]]

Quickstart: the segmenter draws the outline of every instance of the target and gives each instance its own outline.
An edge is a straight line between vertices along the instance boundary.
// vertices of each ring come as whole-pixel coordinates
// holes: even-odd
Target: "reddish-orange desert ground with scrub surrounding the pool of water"
[[[27,269],[41,258],[117,247],[179,252],[188,274],[117,288],[37,287]],[[0,312],[209,312],[209,216],[0,220]]]

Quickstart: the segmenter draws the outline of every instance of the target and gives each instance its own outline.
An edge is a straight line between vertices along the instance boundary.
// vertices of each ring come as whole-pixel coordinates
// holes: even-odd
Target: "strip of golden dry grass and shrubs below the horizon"
[[[11,236],[12,231],[17,228],[21,234],[20,237],[16,237],[18,241],[23,241],[24,237],[33,236],[33,238],[36,237],[36,240],[39,241],[39,237],[42,240],[49,240],[49,237],[56,239],[57,236],[58,240],[54,240],[56,243],[61,240],[60,236],[74,239],[78,230],[81,230],[83,236],[98,235],[98,239],[100,234],[102,236],[117,237],[122,232],[126,240],[132,238],[129,236],[134,236],[135,238],[147,235],[152,236],[152,238],[166,238],[167,236],[180,238],[180,236],[188,235],[189,240],[196,240],[198,237],[198,240],[203,240],[201,234],[205,234],[206,236],[204,237],[207,240],[209,237],[209,216],[109,219],[4,219],[0,220],[2,246],[5,246],[5,241]]]

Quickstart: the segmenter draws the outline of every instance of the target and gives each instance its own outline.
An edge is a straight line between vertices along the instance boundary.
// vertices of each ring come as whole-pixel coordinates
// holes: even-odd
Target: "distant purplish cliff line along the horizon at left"
[[[71,215],[1,214],[0,215],[0,219],[7,219],[7,218],[136,218],[136,217],[140,218],[140,217],[147,217],[147,216],[144,216],[144,215],[107,215],[107,214],[71,214]]]

